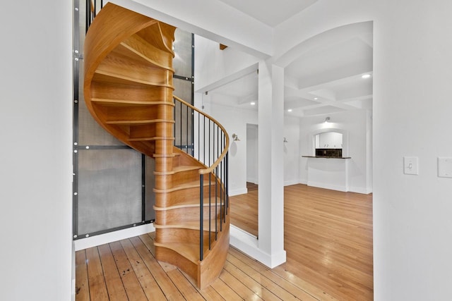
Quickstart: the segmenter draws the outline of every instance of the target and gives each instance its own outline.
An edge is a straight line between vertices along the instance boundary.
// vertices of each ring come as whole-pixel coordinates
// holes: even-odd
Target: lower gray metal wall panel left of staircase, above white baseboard
[[[141,222],[141,154],[81,150],[78,175],[78,233]]]

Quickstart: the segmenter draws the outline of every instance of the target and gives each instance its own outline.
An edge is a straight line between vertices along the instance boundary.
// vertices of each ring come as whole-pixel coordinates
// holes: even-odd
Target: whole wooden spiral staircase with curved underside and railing
[[[229,247],[229,137],[213,118],[173,97],[174,30],[107,4],[85,38],[84,95],[97,123],[155,159],[155,256],[178,266],[204,288],[220,274]],[[176,105],[197,116],[198,135],[208,128],[207,135],[198,136],[198,159],[173,145]],[[219,141],[216,146],[207,145],[212,135]],[[203,153],[209,149],[210,166],[200,161],[201,148]]]

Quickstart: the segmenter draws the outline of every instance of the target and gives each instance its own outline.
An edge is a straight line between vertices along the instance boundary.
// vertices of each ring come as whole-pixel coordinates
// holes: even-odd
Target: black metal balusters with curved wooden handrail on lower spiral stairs
[[[174,146],[182,145],[182,150],[204,164],[199,170],[199,260],[204,257],[204,204],[208,202],[208,250],[218,233],[223,231],[229,209],[227,149],[229,136],[225,128],[191,104],[174,96]],[[191,126],[190,126],[191,125]],[[191,149],[188,143],[190,141]],[[206,195],[207,194],[207,195]],[[215,214],[213,219],[212,214]],[[212,233],[215,233],[212,237]]]

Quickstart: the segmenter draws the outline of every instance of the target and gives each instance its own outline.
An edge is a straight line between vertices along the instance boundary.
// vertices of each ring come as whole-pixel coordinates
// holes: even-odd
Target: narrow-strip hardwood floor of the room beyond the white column
[[[230,197],[231,223],[258,233],[257,191]],[[373,300],[372,195],[286,186],[283,268],[338,300]]]

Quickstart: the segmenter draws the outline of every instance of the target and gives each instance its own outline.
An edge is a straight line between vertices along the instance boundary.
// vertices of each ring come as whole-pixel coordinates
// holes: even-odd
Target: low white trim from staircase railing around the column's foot
[[[279,266],[286,261],[285,250],[273,256],[259,249],[256,236],[230,225],[230,245],[237,247],[240,251],[265,264],[270,269]]]

